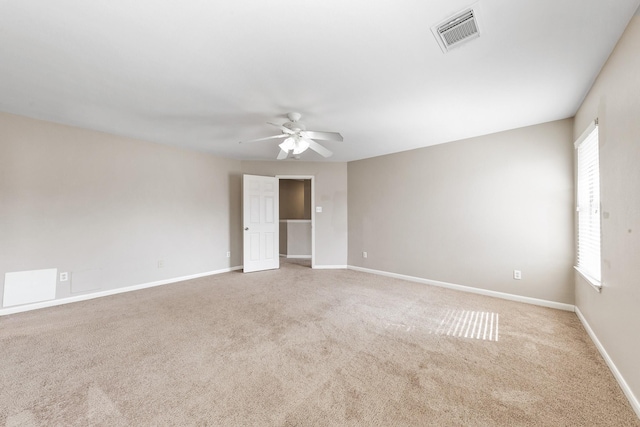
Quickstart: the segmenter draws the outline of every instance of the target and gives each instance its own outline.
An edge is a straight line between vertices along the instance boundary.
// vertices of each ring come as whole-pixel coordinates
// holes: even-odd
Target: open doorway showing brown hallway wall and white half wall
[[[313,177],[278,176],[280,262],[313,268],[315,254]]]

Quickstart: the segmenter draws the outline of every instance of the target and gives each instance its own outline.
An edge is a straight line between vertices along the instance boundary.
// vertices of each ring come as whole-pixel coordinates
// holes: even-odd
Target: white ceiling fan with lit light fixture
[[[342,135],[340,135],[338,132],[320,132],[307,130],[305,125],[300,121],[300,118],[302,117],[302,114],[300,113],[289,113],[287,114],[287,117],[289,118],[289,121],[282,125],[267,122],[268,124],[280,129],[282,131],[282,134],[267,136],[265,138],[252,139],[250,141],[240,141],[240,143],[242,144],[245,142],[257,142],[266,141],[268,139],[284,138],[284,141],[282,141],[282,143],[280,143],[279,145],[280,153],[278,153],[278,157],[276,157],[278,160],[284,160],[289,156],[299,159],[300,154],[309,148],[323,157],[330,157],[333,153],[314,140],[343,140]]]

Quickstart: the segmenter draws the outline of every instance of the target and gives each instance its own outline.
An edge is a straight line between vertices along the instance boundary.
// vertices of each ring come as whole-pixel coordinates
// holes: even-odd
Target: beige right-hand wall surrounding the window
[[[640,398],[640,16],[632,19],[575,118],[574,138],[598,118],[602,282],[576,274],[576,306]],[[638,410],[639,408],[636,408]]]

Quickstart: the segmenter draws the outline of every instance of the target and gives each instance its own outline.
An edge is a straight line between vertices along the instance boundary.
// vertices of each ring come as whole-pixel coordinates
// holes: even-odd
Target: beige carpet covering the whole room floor
[[[5,316],[0,344],[6,426],[640,426],[574,313],[295,263]]]

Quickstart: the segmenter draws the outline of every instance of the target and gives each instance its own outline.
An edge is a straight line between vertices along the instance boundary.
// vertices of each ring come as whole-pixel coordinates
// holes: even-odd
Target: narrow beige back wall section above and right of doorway
[[[347,164],[326,162],[259,162],[243,161],[242,171],[252,175],[313,176],[315,214],[316,266],[347,265]]]

